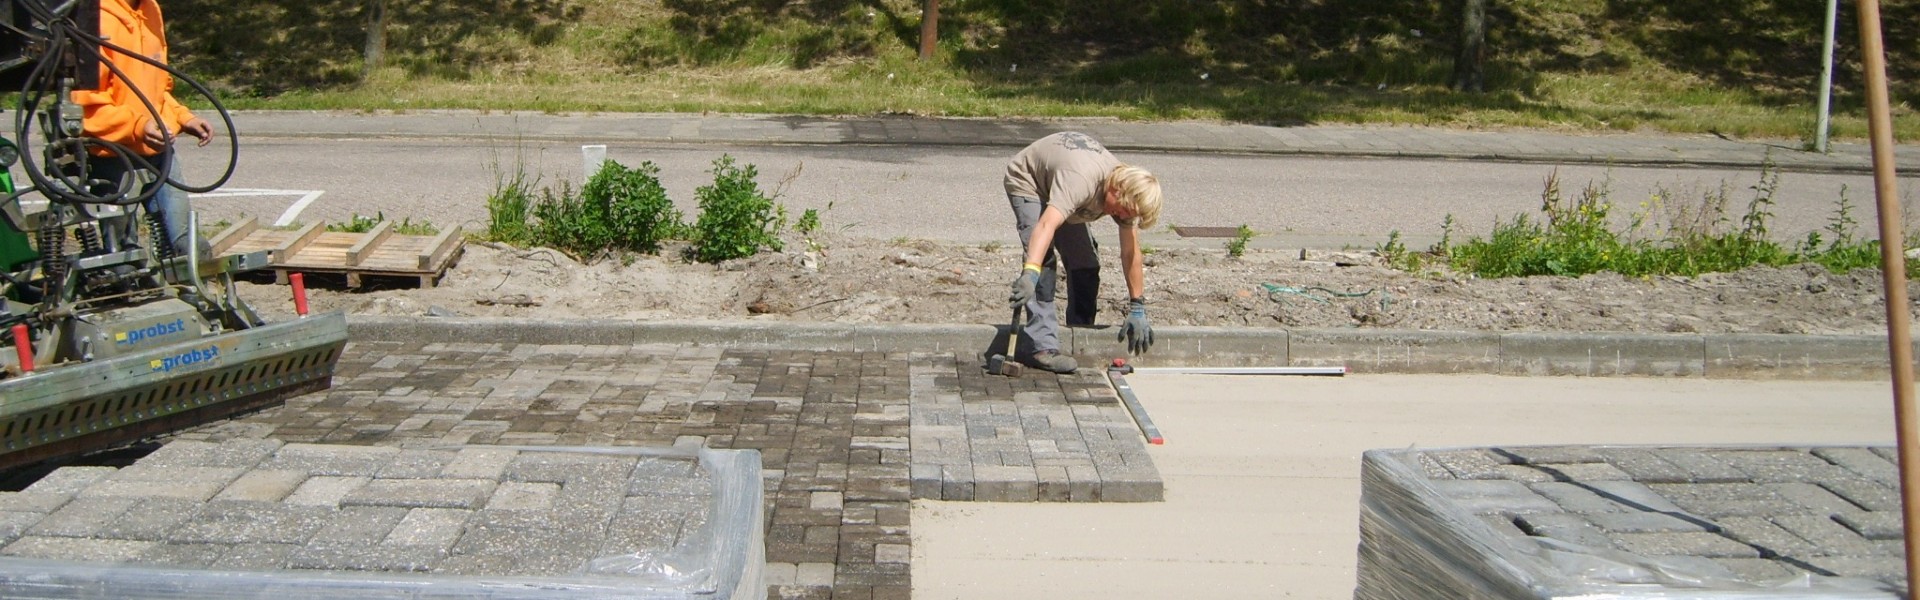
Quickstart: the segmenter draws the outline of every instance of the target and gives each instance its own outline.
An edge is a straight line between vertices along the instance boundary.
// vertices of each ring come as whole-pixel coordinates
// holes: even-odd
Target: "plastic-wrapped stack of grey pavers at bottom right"
[[[1373,450],[1354,598],[1905,598],[1889,454]]]

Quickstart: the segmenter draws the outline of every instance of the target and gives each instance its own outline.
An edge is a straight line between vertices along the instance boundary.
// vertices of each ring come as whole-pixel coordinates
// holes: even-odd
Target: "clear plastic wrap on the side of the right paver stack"
[[[1428,481],[1419,450],[1361,458],[1356,600],[1386,598],[1905,598],[1870,579],[1743,581],[1686,562],[1498,531]]]

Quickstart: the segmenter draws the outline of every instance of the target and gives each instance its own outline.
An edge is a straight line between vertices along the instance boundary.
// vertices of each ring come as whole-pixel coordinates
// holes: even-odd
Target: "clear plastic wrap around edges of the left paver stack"
[[[503,446],[505,448],[505,446]],[[0,598],[766,598],[760,454],[708,448],[511,448],[697,460],[712,481],[707,519],[659,556],[603,556],[572,577],[357,571],[211,571],[0,558]]]

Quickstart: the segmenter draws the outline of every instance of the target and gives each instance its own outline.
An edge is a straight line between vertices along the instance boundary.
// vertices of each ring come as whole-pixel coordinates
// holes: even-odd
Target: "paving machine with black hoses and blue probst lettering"
[[[267,252],[202,256],[198,238],[177,252],[144,210],[161,185],[223,185],[236,138],[227,175],[190,187],[167,177],[165,158],[84,137],[71,92],[96,88],[102,65],[119,73],[98,17],[98,0],[0,0],[0,92],[19,92],[0,138],[0,469],[326,388],[348,338],[338,312],[267,323],[234,292],[234,275],[265,267]],[[213,102],[232,137],[213,94],[175,79]],[[104,160],[129,169],[102,175]]]

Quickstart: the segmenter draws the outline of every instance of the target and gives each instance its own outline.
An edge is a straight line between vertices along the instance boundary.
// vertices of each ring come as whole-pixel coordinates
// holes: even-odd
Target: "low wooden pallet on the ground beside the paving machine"
[[[467,240],[461,227],[440,235],[397,235],[392,221],[380,221],[367,233],[336,233],[313,223],[298,231],[261,229],[246,217],[213,237],[213,256],[267,250],[273,279],[286,285],[290,273],[342,273],[348,287],[361,287],[361,277],[419,277],[420,287],[434,287],[447,267],[461,258]]]

